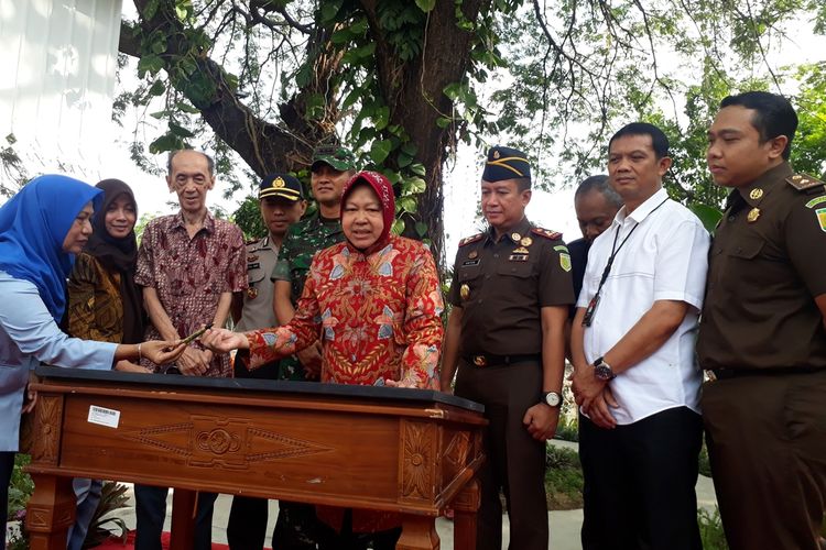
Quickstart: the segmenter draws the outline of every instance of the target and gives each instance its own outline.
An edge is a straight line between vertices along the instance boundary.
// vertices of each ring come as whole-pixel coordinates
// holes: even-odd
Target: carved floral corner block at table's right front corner
[[[434,424],[402,420],[399,460],[400,501],[432,502],[438,484],[437,442]]]

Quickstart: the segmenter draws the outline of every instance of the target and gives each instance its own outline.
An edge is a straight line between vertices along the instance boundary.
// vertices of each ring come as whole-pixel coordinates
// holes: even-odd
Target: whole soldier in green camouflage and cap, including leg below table
[[[343,147],[320,146],[313,153],[309,186],[318,209],[290,227],[272,273],[273,308],[279,323],[290,322],[295,304],[316,252],[344,241],[341,191],[356,173],[352,153]],[[320,342],[280,362],[281,380],[317,380],[322,367]],[[279,519],[272,546],[280,550],[315,549],[320,528],[315,507],[303,503],[279,503]]]

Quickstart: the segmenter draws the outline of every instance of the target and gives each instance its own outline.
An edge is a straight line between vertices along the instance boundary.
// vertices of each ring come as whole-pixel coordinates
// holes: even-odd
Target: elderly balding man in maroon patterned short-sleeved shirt
[[[207,323],[224,327],[232,294],[247,289],[243,235],[233,223],[216,219],[206,207],[215,186],[215,163],[198,151],[170,153],[166,184],[181,210],[146,224],[134,280],[143,287],[150,318],[148,340],[177,340]],[[150,362],[144,366],[154,367]],[[198,341],[177,360],[160,365],[187,376],[231,376],[229,356],[215,356]],[[167,487],[135,485],[137,550],[160,550]],[[214,493],[198,495],[195,549],[211,549]]]

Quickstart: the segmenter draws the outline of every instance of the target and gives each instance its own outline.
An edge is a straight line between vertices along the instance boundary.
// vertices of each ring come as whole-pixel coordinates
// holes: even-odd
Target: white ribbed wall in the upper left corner
[[[0,0],[0,146],[83,177],[112,142],[121,0]],[[3,177],[0,174],[0,177]]]

